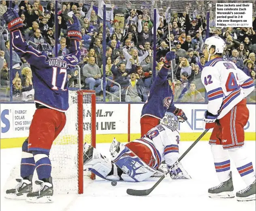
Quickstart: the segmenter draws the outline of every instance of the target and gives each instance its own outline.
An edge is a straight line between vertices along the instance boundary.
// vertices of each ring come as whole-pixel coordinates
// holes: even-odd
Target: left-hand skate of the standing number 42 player
[[[232,173],[230,171],[230,179],[220,183],[218,186],[209,188],[208,193],[210,198],[234,198]]]

